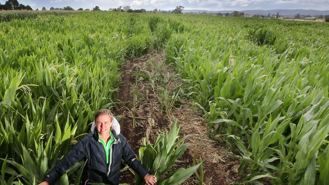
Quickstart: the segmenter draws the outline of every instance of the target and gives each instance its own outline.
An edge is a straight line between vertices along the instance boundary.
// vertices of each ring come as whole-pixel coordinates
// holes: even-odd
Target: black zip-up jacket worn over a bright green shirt
[[[107,184],[118,184],[120,178],[121,158],[141,177],[149,172],[136,159],[136,154],[127,143],[122,134],[116,135],[112,130],[114,142],[110,149],[109,165],[106,164],[106,153],[103,145],[98,142],[97,129],[83,137],[64,157],[56,163],[45,180],[54,184],[60,176],[65,173],[76,162],[81,159],[87,160],[83,173],[83,184],[88,182],[102,182]]]

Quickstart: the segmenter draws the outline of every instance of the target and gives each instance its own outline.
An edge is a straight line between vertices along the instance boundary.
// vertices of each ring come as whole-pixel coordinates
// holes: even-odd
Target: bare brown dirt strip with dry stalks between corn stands
[[[185,141],[192,145],[176,162],[175,169],[191,166],[195,156],[203,160],[204,184],[230,184],[241,179],[242,175],[237,173],[240,160],[227,151],[224,142],[215,142],[208,137],[200,110],[193,108],[189,101],[180,99],[179,105],[169,106],[169,113],[165,111],[159,91],[177,91],[183,82],[164,60],[164,53],[153,51],[126,61],[118,93],[121,103],[114,111],[116,116],[122,115],[119,120],[121,133],[138,155],[143,137],[153,143],[157,135],[170,130],[171,123],[177,119],[181,125],[180,136],[193,135]],[[134,184],[134,175],[129,170],[122,172],[120,183]],[[183,184],[197,184],[195,176],[192,175]]]

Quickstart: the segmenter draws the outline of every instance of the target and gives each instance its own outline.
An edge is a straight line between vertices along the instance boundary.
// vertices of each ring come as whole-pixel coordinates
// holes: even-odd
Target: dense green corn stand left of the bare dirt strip
[[[93,16],[45,14],[0,23],[0,158],[8,155],[6,169],[16,171],[6,174],[15,177],[7,183],[43,180],[87,132],[94,111],[116,105],[126,35],[115,22],[95,24]]]

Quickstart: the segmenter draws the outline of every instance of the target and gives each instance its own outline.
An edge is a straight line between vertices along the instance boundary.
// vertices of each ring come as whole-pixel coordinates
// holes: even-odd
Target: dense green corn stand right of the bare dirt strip
[[[238,183],[322,183],[327,25],[191,17],[179,18],[188,29],[171,35],[167,61],[184,78],[185,96],[204,112],[209,134],[242,157],[240,172],[248,175]]]

